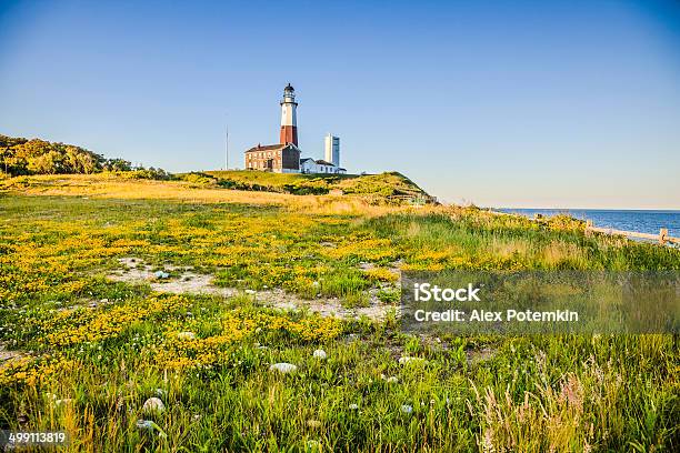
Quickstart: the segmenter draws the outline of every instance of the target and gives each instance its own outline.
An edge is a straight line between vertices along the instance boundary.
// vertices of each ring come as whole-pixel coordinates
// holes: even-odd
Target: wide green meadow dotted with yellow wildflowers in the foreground
[[[392,310],[400,270],[679,270],[678,250],[362,193],[111,174],[0,191],[0,429],[92,452],[680,447],[677,335],[436,338]],[[234,293],[111,280],[131,256]],[[272,289],[388,314],[279,310],[260,298]]]

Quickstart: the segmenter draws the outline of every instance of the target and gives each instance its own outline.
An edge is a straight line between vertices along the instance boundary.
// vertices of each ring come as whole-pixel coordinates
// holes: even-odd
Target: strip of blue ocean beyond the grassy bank
[[[599,210],[599,209],[497,209],[501,212],[513,212],[532,218],[534,214],[546,217],[568,214],[576,219],[592,220],[594,226],[617,230],[639,231],[659,234],[668,228],[668,234],[680,236],[680,211],[643,211],[643,210]]]

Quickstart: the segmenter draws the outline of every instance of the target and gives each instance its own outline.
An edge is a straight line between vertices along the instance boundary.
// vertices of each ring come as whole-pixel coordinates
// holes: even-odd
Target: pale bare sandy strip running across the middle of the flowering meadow
[[[231,298],[243,293],[236,288],[220,288],[212,284],[212,275],[199,274],[191,268],[178,268],[164,265],[166,272],[171,272],[167,279],[159,279],[153,272],[153,266],[146,264],[139,258],[121,258],[118,262],[123,266],[107,275],[110,280],[127,283],[148,283],[153,291],[173,294],[211,294]],[[177,274],[177,276],[176,276]],[[373,320],[382,320],[394,309],[393,305],[383,304],[374,295],[370,296],[369,306],[346,308],[337,298],[319,298],[304,300],[283,290],[274,289],[267,291],[247,290],[247,294],[266,305],[283,310],[309,310],[322,316],[353,318],[367,316]],[[398,309],[398,308],[397,308]]]

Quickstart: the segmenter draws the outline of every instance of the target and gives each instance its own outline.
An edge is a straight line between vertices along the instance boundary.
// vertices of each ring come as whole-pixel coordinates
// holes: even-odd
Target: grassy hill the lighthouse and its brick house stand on
[[[343,194],[376,199],[433,201],[433,198],[420,189],[413,181],[398,172],[357,175],[270,173],[233,170],[184,173],[178,175],[178,178],[189,182],[219,185],[227,189],[257,190],[297,195],[322,195],[333,190],[341,190]]]

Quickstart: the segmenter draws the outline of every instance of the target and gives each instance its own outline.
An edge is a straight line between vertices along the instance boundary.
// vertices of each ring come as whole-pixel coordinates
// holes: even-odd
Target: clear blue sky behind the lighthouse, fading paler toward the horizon
[[[677,1],[0,0],[0,133],[170,171],[278,140],[450,202],[680,209]]]

